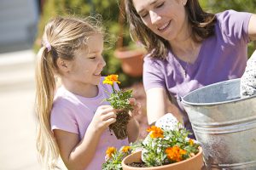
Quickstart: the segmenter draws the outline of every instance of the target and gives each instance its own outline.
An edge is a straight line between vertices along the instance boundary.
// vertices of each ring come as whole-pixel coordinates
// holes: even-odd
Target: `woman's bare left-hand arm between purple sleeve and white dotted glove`
[[[148,124],[156,122],[167,112],[167,95],[165,88],[150,88],[146,92]]]

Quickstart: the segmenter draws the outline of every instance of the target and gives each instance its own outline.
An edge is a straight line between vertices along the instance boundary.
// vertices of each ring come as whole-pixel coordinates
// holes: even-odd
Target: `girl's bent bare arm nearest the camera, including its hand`
[[[116,114],[110,105],[100,106],[89,127],[84,139],[79,142],[79,135],[62,130],[54,130],[61,158],[68,169],[82,170],[90,164],[95,155],[102,132],[116,121]]]

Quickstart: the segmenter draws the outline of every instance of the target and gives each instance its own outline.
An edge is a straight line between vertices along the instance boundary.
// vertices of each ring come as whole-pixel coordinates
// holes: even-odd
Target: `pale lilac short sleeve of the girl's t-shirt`
[[[50,113],[51,129],[61,129],[70,133],[78,133],[78,123],[72,110],[68,109],[68,104],[56,102]]]

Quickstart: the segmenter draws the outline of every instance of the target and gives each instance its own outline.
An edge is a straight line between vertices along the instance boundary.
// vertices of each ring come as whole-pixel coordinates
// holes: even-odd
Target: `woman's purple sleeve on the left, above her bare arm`
[[[143,63],[143,86],[145,91],[150,88],[166,88],[163,66],[158,59],[146,56]]]

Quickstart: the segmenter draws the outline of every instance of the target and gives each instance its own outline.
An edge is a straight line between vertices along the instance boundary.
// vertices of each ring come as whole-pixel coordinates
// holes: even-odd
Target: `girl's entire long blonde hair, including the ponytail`
[[[77,50],[86,48],[88,37],[103,34],[98,20],[91,17],[57,17],[44,27],[42,48],[38,51],[36,64],[36,116],[37,150],[39,161],[46,169],[55,169],[59,150],[50,127],[50,111],[55,95],[55,75],[58,58],[72,60]],[[96,21],[92,23],[91,21]]]

